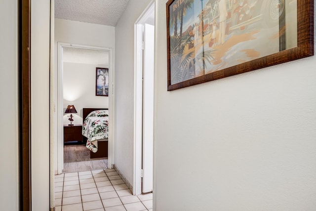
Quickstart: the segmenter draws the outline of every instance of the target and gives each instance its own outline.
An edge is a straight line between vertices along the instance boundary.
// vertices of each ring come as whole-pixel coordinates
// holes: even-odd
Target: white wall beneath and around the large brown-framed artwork
[[[316,57],[167,91],[166,1],[156,0],[154,210],[315,210]]]

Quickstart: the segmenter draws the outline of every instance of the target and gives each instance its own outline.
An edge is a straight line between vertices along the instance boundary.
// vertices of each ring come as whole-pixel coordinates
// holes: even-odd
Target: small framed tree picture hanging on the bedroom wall
[[[109,96],[109,69],[108,68],[96,68],[96,96]]]

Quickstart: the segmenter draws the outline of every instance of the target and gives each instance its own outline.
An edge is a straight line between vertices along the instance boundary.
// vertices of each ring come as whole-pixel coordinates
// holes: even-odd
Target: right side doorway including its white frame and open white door
[[[155,3],[135,23],[134,193],[153,190]]]

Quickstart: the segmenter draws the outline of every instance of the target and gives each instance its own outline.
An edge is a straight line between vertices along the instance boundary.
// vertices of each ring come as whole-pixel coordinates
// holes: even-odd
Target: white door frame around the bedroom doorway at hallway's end
[[[89,50],[106,51],[109,53],[109,146],[108,146],[108,168],[112,168],[112,161],[114,158],[114,70],[113,70],[113,56],[112,48],[98,47],[82,44],[72,44],[66,42],[57,42],[57,120],[54,125],[57,125],[57,173],[62,173],[64,168],[64,134],[63,134],[63,47],[76,47]],[[111,85],[110,85],[111,84]],[[56,96],[56,95],[55,95]],[[56,139],[55,139],[56,140]],[[55,160],[56,161],[56,160]]]

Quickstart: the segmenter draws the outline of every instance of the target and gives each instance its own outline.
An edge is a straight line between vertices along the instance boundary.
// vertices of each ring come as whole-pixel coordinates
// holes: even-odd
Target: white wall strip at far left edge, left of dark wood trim
[[[0,205],[1,210],[19,210],[18,186],[18,3],[1,1],[0,26]]]

